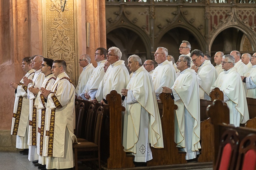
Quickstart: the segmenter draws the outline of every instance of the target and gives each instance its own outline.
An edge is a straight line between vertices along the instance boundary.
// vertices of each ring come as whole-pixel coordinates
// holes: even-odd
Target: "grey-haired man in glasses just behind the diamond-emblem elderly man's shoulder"
[[[154,56],[158,66],[154,69],[152,80],[156,94],[160,94],[163,86],[173,86],[176,80],[176,71],[172,62],[167,60],[168,50],[166,48],[158,47]]]

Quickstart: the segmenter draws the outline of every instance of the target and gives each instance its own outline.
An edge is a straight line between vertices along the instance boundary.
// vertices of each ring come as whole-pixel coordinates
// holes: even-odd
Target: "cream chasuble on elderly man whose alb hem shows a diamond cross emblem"
[[[141,146],[136,146],[139,138],[148,138],[152,147],[163,148],[161,120],[154,86],[150,74],[143,66],[133,73],[126,89],[128,89],[128,93],[131,92],[132,94],[126,97],[123,104],[126,108],[123,133],[124,151],[135,154],[142,152],[139,151]],[[129,99],[130,96],[133,96],[134,99],[133,97]],[[146,136],[139,136],[144,131],[140,129],[140,125],[144,121],[141,120],[142,110],[149,114],[148,134]]]

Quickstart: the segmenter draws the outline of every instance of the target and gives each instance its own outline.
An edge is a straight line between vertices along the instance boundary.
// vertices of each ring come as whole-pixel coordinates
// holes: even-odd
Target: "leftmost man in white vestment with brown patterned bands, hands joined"
[[[34,69],[30,65],[30,57],[22,60],[22,69],[27,72],[24,77],[33,79]],[[19,83],[10,82],[10,87],[15,89],[15,101],[13,107],[11,135],[16,136],[16,148],[24,149],[21,152],[28,154],[28,120],[29,99],[27,97],[28,87],[23,79]]]

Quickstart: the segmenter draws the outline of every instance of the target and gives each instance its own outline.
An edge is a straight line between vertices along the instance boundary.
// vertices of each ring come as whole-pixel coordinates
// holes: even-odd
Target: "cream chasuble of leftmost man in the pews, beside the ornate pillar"
[[[88,82],[90,75],[94,71],[94,69],[95,67],[92,63],[88,64],[83,68],[83,71],[79,75],[77,86],[75,88],[75,95],[79,96],[83,92],[84,87]]]

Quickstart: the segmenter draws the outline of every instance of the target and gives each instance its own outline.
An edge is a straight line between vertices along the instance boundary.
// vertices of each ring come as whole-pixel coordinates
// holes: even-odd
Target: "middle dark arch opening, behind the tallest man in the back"
[[[183,40],[189,41],[191,44],[191,51],[194,49],[202,50],[195,36],[190,31],[181,27],[173,28],[165,33],[156,47],[167,48],[169,55],[173,55],[176,62],[181,55],[179,52],[179,47]]]

